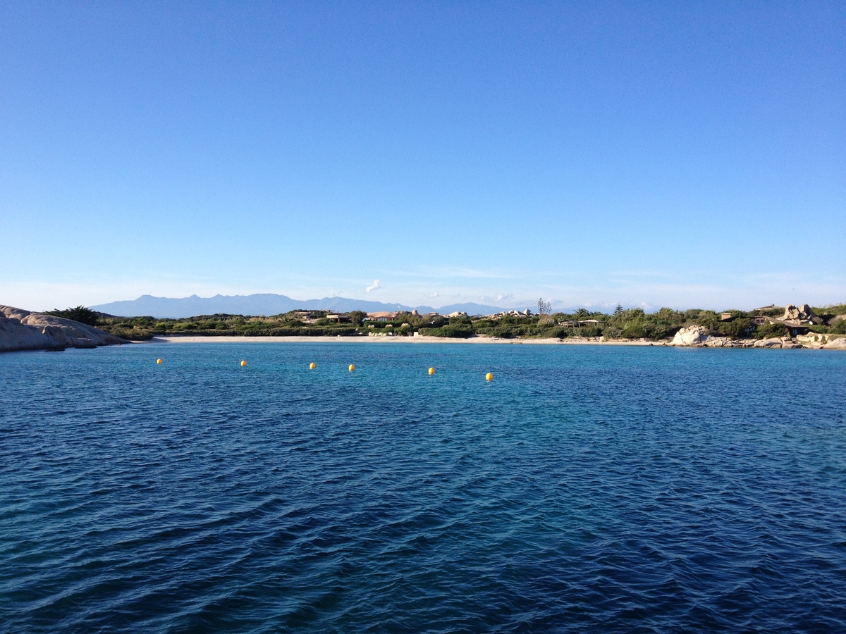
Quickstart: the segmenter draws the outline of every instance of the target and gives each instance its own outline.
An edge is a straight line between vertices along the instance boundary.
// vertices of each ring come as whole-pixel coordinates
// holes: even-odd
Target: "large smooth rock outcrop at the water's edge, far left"
[[[0,305],[0,352],[119,346],[124,343],[129,342],[79,321]]]

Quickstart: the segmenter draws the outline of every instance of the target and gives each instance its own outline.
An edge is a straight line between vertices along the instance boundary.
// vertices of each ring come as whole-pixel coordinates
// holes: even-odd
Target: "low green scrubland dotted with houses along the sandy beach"
[[[543,306],[547,309],[547,306]],[[846,334],[846,304],[815,307],[819,323],[809,325],[811,332]],[[87,312],[86,312],[87,311]],[[528,312],[528,311],[527,311]],[[145,341],[153,336],[424,336],[466,338],[491,336],[500,338],[596,337],[607,339],[648,339],[660,341],[672,337],[684,327],[700,325],[712,336],[735,339],[763,339],[783,336],[783,325],[761,318],[778,319],[783,308],[754,311],[674,310],[662,308],[652,313],[643,309],[618,306],[613,313],[579,309],[574,313],[512,313],[448,317],[441,314],[400,312],[389,320],[371,320],[361,311],[330,314],[322,310],[294,310],[270,317],[240,314],[209,314],[184,319],[153,317],[114,317],[77,306],[51,314],[76,314],[83,323],[96,325],[113,335],[130,341]],[[91,314],[88,314],[91,313]],[[92,318],[91,315],[94,315]],[[70,317],[74,319],[74,317]],[[93,320],[95,323],[91,323]],[[82,321],[82,320],[78,320]]]

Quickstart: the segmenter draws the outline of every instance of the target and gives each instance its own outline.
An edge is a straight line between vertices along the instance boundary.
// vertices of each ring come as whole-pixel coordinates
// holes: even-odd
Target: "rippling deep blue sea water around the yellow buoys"
[[[0,631],[846,631],[844,415],[836,351],[3,354]]]

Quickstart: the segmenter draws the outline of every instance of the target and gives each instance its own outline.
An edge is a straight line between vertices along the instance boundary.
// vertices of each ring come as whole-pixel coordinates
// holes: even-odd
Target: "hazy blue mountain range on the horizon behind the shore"
[[[381,310],[417,309],[420,313],[438,312],[441,314],[450,314],[456,310],[467,314],[492,314],[506,310],[501,306],[485,306],[472,302],[453,303],[434,309],[431,306],[405,306],[401,303],[368,302],[364,299],[322,298],[301,300],[270,292],[255,293],[254,295],[215,295],[213,298],[201,298],[196,295],[191,295],[190,298],[156,298],[152,295],[141,295],[138,299],[102,303],[89,308],[118,317],[150,316],[172,319],[216,313],[266,316],[298,309],[334,310],[342,313],[347,313],[350,310],[375,313]],[[520,308],[525,309],[527,307]]]

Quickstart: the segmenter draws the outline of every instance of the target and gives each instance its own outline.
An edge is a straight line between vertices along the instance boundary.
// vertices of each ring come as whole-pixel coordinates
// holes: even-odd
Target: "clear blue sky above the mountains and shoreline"
[[[0,216],[25,309],[843,302],[846,4],[4,0]]]

